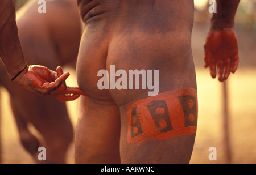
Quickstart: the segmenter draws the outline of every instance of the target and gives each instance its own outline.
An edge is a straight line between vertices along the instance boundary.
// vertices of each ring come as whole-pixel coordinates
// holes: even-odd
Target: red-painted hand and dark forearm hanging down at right
[[[239,63],[237,35],[234,16],[240,0],[217,0],[204,45],[205,67],[209,67],[212,78],[218,76],[220,82],[228,79],[237,70]]]

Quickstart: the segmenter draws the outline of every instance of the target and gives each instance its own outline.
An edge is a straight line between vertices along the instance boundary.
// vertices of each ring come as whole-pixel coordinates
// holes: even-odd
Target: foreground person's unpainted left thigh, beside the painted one
[[[120,163],[119,107],[82,97],[75,131],[75,163]]]

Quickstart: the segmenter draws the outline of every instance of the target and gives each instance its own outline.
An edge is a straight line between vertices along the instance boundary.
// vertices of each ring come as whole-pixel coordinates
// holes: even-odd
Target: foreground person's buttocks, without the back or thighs
[[[82,36],[77,59],[77,80],[79,87],[89,96],[113,100],[117,105],[123,106],[151,91],[148,89],[148,79],[154,84],[154,91],[157,89],[154,95],[158,90],[161,93],[170,87],[196,87],[195,67],[189,45],[176,42],[175,45],[166,44],[162,47],[158,44],[167,42],[166,40],[156,38],[152,42],[144,35],[113,37],[111,33],[108,28],[104,32],[92,32],[89,29]],[[131,71],[134,74],[136,71],[138,74],[146,74],[144,79],[130,80]],[[118,84],[121,80],[122,83]],[[146,89],[143,88],[143,82],[147,82]],[[138,84],[140,87],[133,88],[130,84]]]

